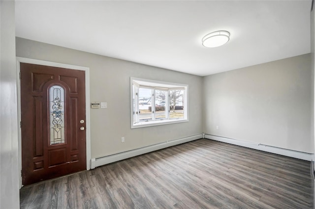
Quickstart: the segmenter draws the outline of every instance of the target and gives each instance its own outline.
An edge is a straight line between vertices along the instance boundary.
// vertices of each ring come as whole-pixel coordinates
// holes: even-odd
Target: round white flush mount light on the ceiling
[[[230,33],[225,30],[218,30],[205,35],[202,38],[202,45],[209,48],[220,47],[226,44],[228,40],[230,40]]]

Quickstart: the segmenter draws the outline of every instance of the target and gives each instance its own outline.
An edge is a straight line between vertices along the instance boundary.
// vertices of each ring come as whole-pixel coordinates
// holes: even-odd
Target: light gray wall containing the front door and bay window
[[[202,132],[202,78],[120,59],[16,38],[16,55],[90,68],[91,157],[103,157]],[[130,77],[189,85],[189,122],[130,129]],[[125,143],[121,143],[125,137]]]

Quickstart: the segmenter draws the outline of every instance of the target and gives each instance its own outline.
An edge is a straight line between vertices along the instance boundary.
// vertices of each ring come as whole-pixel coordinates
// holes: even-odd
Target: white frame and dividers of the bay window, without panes
[[[152,99],[151,99],[151,108],[152,108],[152,121],[147,122],[139,122],[138,114],[133,114],[133,111],[139,112],[139,88],[149,88],[152,89]],[[155,120],[155,90],[166,91],[166,99],[165,99],[165,112],[167,112],[165,119],[163,120]],[[169,118],[169,91],[170,90],[184,90],[183,93],[183,106],[184,106],[184,118],[178,119],[170,119]],[[134,98],[134,103],[133,103]],[[133,105],[135,104],[135,107]],[[137,104],[137,105],[136,105]],[[171,83],[164,82],[158,80],[150,80],[144,78],[133,78],[130,77],[130,121],[131,121],[131,129],[143,128],[143,127],[151,127],[151,126],[159,126],[166,124],[174,124],[174,123],[183,123],[188,122],[188,85],[181,83]],[[134,123],[134,118],[136,123]]]

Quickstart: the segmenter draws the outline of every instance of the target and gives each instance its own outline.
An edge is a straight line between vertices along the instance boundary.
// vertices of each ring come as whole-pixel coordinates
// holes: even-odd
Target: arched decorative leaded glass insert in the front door
[[[64,89],[54,85],[49,89],[50,145],[64,143]]]

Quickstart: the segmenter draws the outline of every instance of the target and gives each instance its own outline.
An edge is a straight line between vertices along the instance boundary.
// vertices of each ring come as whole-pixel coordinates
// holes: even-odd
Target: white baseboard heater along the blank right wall
[[[287,157],[294,157],[298,159],[304,159],[304,160],[309,160],[312,161],[313,155],[311,153],[303,153],[299,151],[294,151],[294,150],[287,150],[279,147],[273,147],[273,146],[268,146],[264,144],[259,144],[259,143],[251,143],[251,142],[246,142],[246,141],[240,141],[237,139],[231,139],[231,138],[225,138],[222,136],[216,136],[216,135],[211,135],[211,134],[205,134],[206,139],[212,139],[215,141],[221,141],[229,144],[234,144],[234,145],[239,145],[242,147],[247,147],[247,148],[252,148],[255,150],[261,150],[265,151],[268,153],[274,153],[278,155],[283,155]]]

